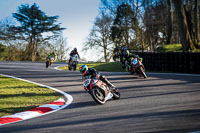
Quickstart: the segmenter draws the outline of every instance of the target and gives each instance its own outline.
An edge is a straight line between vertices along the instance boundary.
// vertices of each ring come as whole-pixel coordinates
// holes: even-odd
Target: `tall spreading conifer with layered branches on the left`
[[[28,4],[19,6],[13,17],[20,25],[11,26],[9,31],[14,33],[13,40],[27,42],[26,52],[29,55],[27,60],[35,61],[38,45],[57,37],[59,32],[65,29],[56,24],[58,16],[47,16],[35,3],[32,6]],[[48,33],[48,36],[44,37],[44,33]]]

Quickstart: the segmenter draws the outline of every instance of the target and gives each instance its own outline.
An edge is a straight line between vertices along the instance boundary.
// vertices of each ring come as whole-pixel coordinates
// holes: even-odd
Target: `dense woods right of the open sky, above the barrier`
[[[181,44],[183,52],[195,51],[199,6],[198,0],[101,0],[85,50],[101,48],[106,62],[116,59],[122,46],[156,52]]]

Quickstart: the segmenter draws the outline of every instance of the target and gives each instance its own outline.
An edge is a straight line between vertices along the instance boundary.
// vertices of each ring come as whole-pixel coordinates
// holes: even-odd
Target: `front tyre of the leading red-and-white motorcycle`
[[[92,98],[94,99],[94,101],[100,105],[105,104],[105,96],[104,93],[102,92],[102,90],[96,88],[96,89],[92,89],[90,91],[90,95],[92,96]]]

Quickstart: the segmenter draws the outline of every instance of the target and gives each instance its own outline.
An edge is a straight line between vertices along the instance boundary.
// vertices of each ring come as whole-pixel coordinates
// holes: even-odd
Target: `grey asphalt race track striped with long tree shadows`
[[[53,67],[63,64],[53,64]],[[200,76],[101,72],[119,88],[121,99],[97,105],[77,71],[46,69],[45,63],[0,62],[0,73],[62,90],[68,107],[41,117],[0,126],[0,133],[136,133],[200,131]]]

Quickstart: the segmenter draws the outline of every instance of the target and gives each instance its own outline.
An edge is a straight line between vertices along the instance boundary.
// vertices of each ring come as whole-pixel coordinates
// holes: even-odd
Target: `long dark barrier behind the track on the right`
[[[143,58],[147,71],[200,74],[200,53],[134,52]]]

